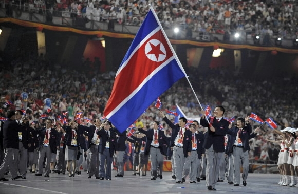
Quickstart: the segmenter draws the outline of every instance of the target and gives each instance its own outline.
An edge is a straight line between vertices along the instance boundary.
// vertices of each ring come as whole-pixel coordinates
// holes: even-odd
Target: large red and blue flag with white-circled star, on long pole
[[[153,8],[116,73],[104,115],[123,132],[186,73]]]

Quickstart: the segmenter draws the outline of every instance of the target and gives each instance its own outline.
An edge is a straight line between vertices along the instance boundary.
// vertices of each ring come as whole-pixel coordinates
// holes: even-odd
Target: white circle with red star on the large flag
[[[163,61],[166,57],[165,48],[163,44],[157,39],[152,39],[147,42],[145,46],[145,54],[148,59],[154,62]]]

